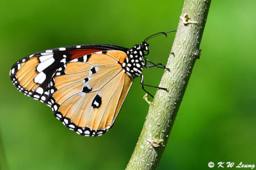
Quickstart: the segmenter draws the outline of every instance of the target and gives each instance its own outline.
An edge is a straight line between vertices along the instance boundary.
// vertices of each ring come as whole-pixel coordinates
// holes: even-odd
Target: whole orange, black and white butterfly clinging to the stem
[[[20,92],[50,106],[68,129],[81,136],[101,136],[113,126],[134,78],[141,77],[143,90],[155,87],[143,83],[142,70],[166,67],[145,57],[147,40],[166,33],[132,48],[94,44],[33,53],[12,66],[10,78]]]

